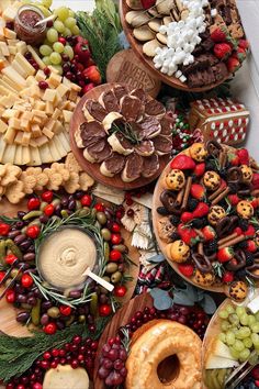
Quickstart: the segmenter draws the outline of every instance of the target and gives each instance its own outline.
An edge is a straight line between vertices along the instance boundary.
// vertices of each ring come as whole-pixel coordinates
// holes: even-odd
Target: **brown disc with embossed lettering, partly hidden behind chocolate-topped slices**
[[[116,53],[106,68],[108,82],[126,82],[132,88],[142,88],[153,98],[159,93],[161,81],[135,55],[132,48]]]

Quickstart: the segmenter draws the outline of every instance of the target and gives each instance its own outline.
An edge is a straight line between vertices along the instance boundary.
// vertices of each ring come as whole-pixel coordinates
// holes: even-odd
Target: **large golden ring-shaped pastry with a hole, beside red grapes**
[[[170,320],[153,320],[147,324],[137,330],[132,340],[125,388],[201,389],[200,337],[188,326]],[[174,363],[169,365],[172,369],[167,366],[171,377],[168,374],[168,378],[159,377],[160,364],[172,356]]]

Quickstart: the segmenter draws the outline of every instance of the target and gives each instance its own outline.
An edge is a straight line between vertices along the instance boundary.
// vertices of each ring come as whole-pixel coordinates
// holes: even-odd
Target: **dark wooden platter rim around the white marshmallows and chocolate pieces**
[[[134,35],[133,35],[133,29],[131,27],[131,25],[126,22],[125,15],[128,11],[132,11],[132,9],[127,5],[126,0],[120,0],[120,15],[121,15],[121,22],[122,22],[122,26],[123,30],[126,34],[126,37],[132,46],[132,48],[134,49],[134,52],[136,53],[136,55],[138,56],[138,58],[154,73],[154,75],[160,79],[162,82],[169,85],[172,88],[177,88],[177,89],[181,89],[184,91],[192,91],[192,92],[204,92],[206,90],[211,90],[215,87],[217,87],[218,85],[223,84],[226,79],[228,79],[230,77],[230,75],[228,75],[227,77],[225,77],[224,79],[222,79],[218,82],[214,82],[214,84],[210,84],[206,85],[204,87],[200,87],[200,88],[188,88],[187,84],[181,82],[178,78],[172,77],[172,76],[167,76],[165,74],[162,74],[161,71],[159,71],[158,69],[155,68],[154,63],[153,63],[153,58],[147,57],[144,53],[143,53],[143,44],[140,42],[138,42]],[[144,11],[144,10],[143,10]]]

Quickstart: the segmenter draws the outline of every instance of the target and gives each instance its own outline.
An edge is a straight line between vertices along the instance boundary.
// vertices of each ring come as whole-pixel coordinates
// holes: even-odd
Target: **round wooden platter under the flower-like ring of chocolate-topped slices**
[[[122,190],[131,190],[131,189],[144,187],[145,185],[148,185],[149,182],[154,181],[160,175],[160,173],[164,170],[165,166],[168,163],[169,157],[167,155],[165,155],[159,158],[160,168],[153,177],[149,177],[149,178],[140,177],[138,179],[135,179],[132,182],[124,182],[120,175],[116,175],[114,177],[103,176],[100,171],[100,164],[91,164],[89,160],[87,160],[83,157],[83,148],[78,148],[76,141],[75,141],[76,130],[79,127],[79,125],[81,123],[86,122],[86,118],[82,112],[82,108],[85,105],[85,102],[88,99],[97,99],[98,100],[99,96],[102,92],[110,90],[115,85],[117,85],[117,84],[110,82],[110,84],[100,85],[99,87],[91,89],[89,92],[87,92],[81,98],[81,100],[79,101],[79,103],[77,104],[77,107],[74,111],[72,119],[70,121],[70,146],[71,146],[75,157],[77,158],[77,160],[80,164],[80,166],[82,167],[82,169],[85,171],[87,171],[98,182],[101,182],[106,186],[111,186],[113,188],[122,189]]]

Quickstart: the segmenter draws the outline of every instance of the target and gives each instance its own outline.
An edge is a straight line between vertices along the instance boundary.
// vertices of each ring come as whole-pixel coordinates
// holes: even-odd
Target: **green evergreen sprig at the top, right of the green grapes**
[[[81,34],[89,41],[92,58],[104,82],[110,59],[122,48],[119,41],[121,23],[117,11],[111,11],[110,1],[97,1],[97,5],[92,14],[78,12],[77,22]]]

